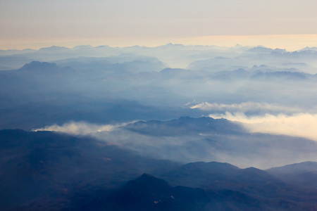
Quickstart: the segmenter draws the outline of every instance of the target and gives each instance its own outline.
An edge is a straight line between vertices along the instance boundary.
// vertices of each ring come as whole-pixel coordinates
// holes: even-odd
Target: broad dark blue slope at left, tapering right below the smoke
[[[68,201],[77,191],[116,187],[143,172],[175,165],[106,142],[52,132],[2,130],[0,149],[3,209],[47,198]]]

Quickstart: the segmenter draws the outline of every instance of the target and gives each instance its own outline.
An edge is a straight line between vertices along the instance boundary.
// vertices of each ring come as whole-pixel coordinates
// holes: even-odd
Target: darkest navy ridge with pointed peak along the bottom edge
[[[310,210],[316,205],[296,200],[263,198],[228,189],[211,190],[170,186],[149,174],[128,181],[113,193],[101,193],[89,203],[70,210]],[[316,197],[316,196],[315,196]]]

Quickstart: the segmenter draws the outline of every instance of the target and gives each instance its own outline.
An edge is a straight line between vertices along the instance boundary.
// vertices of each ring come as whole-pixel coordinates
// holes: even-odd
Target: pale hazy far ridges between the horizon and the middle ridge
[[[0,51],[9,70],[0,72],[0,127],[316,113],[316,52],[174,44]]]

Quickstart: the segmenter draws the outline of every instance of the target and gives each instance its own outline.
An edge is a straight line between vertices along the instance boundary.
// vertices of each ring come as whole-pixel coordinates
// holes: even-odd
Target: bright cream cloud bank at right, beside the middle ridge
[[[244,113],[226,112],[225,114],[211,114],[209,117],[242,122],[250,132],[302,136],[317,141],[317,114],[296,113],[285,115],[281,113],[279,115],[247,116]]]

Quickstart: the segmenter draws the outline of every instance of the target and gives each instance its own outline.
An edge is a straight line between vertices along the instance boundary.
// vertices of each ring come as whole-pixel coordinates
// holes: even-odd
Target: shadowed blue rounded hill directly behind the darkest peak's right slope
[[[161,174],[163,179],[173,185],[186,185],[192,188],[230,189],[273,200],[285,198],[306,200],[305,188],[294,188],[286,179],[277,178],[263,170],[249,167],[240,169],[221,162],[192,162]],[[302,194],[302,195],[301,195]],[[311,200],[316,198],[316,194]]]

